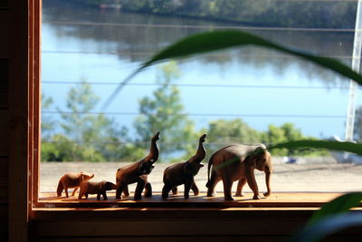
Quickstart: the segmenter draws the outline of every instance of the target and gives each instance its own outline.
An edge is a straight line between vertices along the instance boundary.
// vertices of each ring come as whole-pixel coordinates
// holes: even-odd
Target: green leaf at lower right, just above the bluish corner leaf
[[[342,195],[338,198],[331,200],[322,206],[317,212],[313,213],[308,225],[312,225],[322,218],[326,218],[331,215],[337,215],[346,213],[350,208],[355,208],[359,205],[362,199],[362,192],[351,192]]]

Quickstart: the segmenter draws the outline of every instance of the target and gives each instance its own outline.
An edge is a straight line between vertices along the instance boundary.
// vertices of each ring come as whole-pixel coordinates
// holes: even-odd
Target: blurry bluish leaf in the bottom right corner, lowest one
[[[362,226],[362,215],[360,212],[338,214],[320,219],[312,226],[300,230],[288,241],[291,242],[312,242],[319,241],[323,237],[336,233],[347,227]]]

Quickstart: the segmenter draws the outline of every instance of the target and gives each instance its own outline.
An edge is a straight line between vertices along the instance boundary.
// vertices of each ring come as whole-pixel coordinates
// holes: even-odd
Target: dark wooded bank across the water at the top
[[[123,11],[178,15],[207,20],[279,27],[354,28],[357,1],[278,0],[71,0]]]

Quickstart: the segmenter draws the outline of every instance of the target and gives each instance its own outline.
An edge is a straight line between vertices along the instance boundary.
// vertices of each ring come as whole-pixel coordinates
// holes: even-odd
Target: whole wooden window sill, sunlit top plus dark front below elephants
[[[32,220],[38,236],[46,238],[153,237],[157,241],[159,237],[185,240],[205,235],[223,238],[232,235],[238,241],[240,237],[255,235],[280,238],[302,227],[315,210],[341,194],[276,192],[269,198],[252,200],[252,193],[247,193],[243,198],[224,201],[222,193],[214,198],[201,193],[189,199],[180,194],[164,200],[159,192],[154,192],[152,198],[135,201],[132,194],[116,200],[110,192],[108,200],[98,201],[95,195],[80,200],[43,193],[37,207],[32,209]],[[361,235],[360,230],[353,233]],[[172,239],[165,241],[169,240]]]

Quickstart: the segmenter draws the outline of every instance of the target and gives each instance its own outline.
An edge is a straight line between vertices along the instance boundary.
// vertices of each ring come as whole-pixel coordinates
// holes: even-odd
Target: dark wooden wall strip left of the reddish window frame
[[[9,241],[27,240],[27,10],[0,0],[0,235]]]

